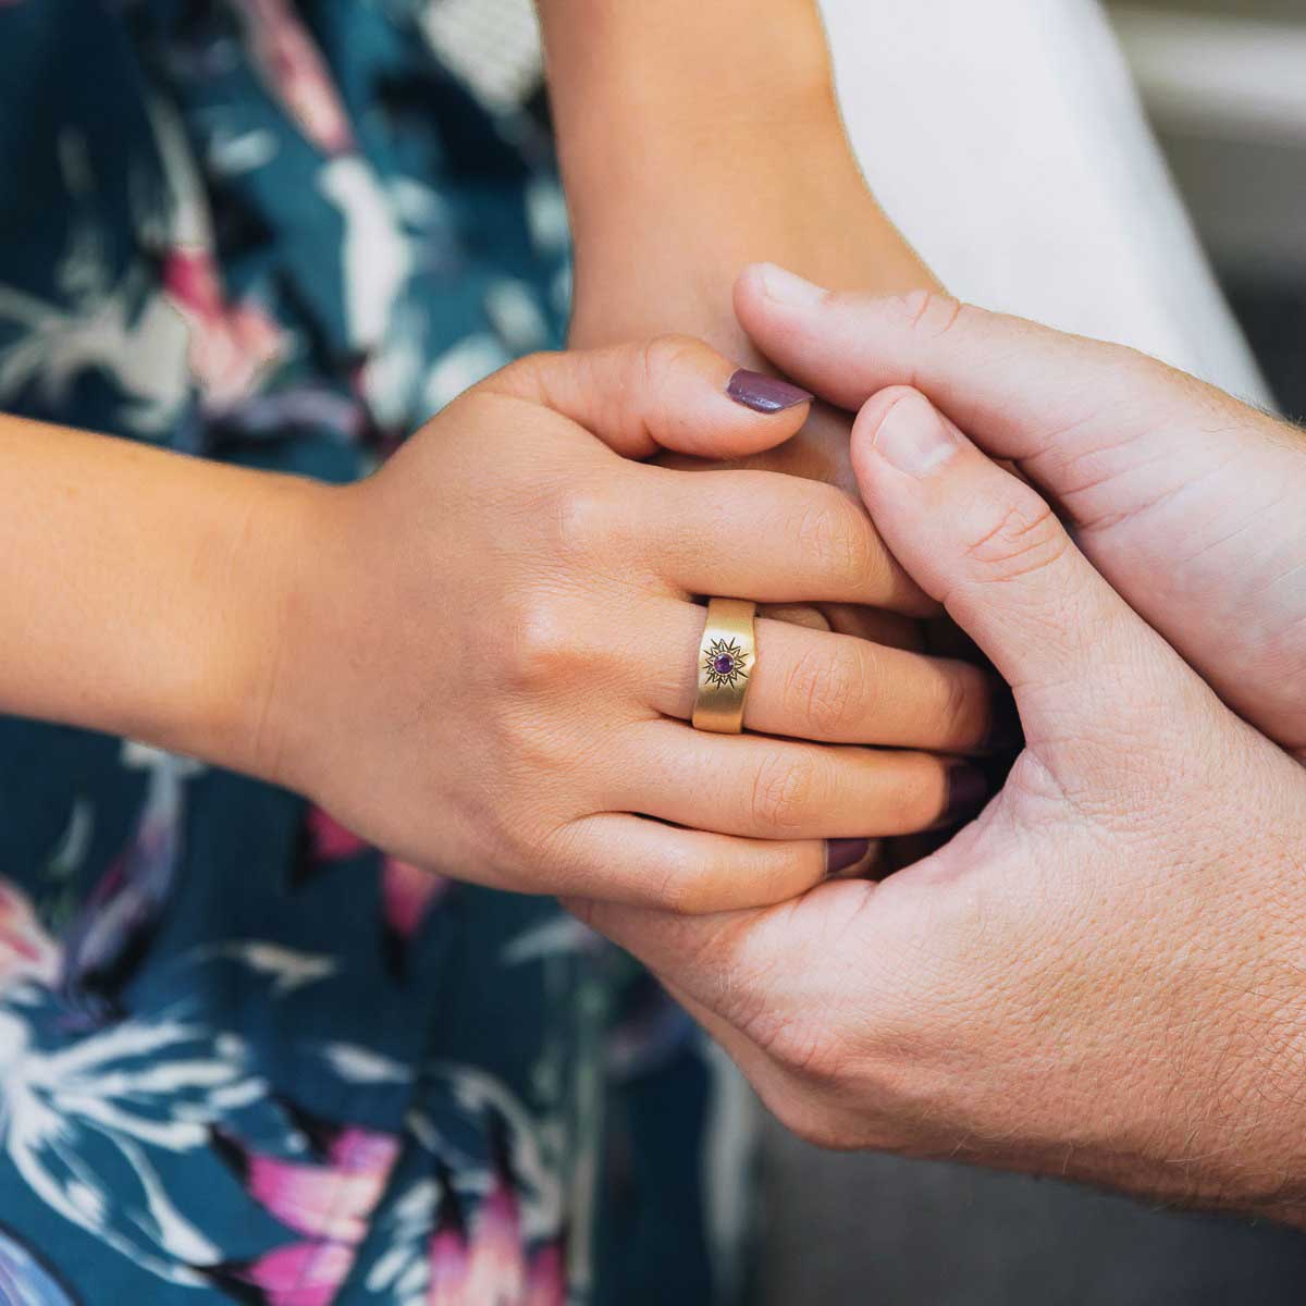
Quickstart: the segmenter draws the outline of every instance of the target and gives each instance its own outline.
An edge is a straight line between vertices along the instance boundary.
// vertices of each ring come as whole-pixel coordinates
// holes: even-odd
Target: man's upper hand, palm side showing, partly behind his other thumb
[[[1221,697],[1306,748],[1306,435],[1134,350],[944,296],[871,299],[754,268],[741,321],[857,407],[919,387],[1016,462],[1111,585]]]

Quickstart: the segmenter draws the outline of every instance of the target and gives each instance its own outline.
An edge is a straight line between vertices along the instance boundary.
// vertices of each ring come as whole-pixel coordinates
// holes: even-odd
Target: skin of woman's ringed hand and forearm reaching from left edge
[[[637,461],[790,436],[806,405],[751,411],[733,370],[679,338],[537,355],[347,487],[0,419],[0,710],[272,780],[502,888],[791,897],[825,840],[939,821],[959,764],[918,750],[976,748],[989,687],[764,620],[768,734],[687,725],[696,594],[930,606],[836,490]]]

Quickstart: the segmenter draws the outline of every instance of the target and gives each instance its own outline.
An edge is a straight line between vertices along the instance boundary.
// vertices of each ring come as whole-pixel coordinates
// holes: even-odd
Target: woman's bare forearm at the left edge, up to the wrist
[[[307,490],[0,415],[0,710],[256,769]]]

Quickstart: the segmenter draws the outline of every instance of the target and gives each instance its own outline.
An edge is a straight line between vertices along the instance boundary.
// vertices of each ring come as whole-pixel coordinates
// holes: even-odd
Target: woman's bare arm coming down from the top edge
[[[539,0],[576,243],[572,338],[693,330],[730,353],[730,287],[934,285],[875,204],[815,0]]]

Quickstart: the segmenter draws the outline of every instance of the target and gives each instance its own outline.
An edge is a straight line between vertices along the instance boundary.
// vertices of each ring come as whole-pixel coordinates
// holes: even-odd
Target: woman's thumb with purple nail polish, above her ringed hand
[[[812,398],[737,368],[688,336],[532,354],[485,388],[552,409],[627,458],[674,449],[724,460],[771,449],[797,435]]]

